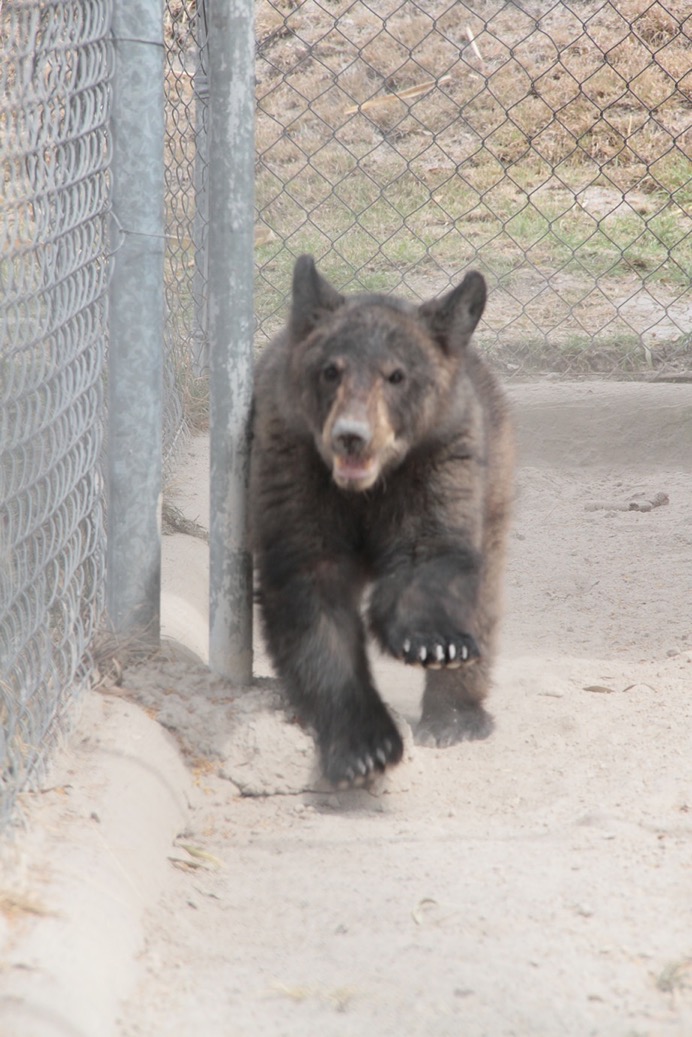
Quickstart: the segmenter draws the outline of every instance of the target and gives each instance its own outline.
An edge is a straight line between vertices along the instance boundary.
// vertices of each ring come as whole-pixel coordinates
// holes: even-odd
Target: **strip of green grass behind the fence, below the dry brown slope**
[[[270,178],[267,204],[262,204],[260,177],[259,213],[275,242],[282,235],[286,241],[289,231],[289,259],[301,251],[320,256],[334,248],[342,263],[355,272],[378,262],[383,274],[393,265],[400,275],[430,258],[446,267],[454,255],[460,268],[472,261],[488,262],[494,270],[514,269],[518,248],[542,268],[580,271],[592,278],[636,270],[657,282],[680,285],[689,277],[692,234],[686,228],[682,204],[689,189],[682,183],[679,165],[668,167],[671,186],[679,184],[675,201],[659,190],[646,196],[644,212],[612,187],[600,189],[605,205],[589,211],[565,189],[531,194],[506,179],[493,183],[494,172],[493,167],[487,189],[479,189],[477,177],[469,183],[464,172],[431,194],[413,174],[381,189],[354,169],[353,176],[340,181],[331,194],[325,196],[321,190],[315,201],[309,172],[304,170],[301,178],[292,181],[289,196],[277,197]],[[545,176],[543,169],[536,168],[536,173]],[[614,212],[608,212],[609,205]],[[259,252],[260,270],[266,256],[276,261],[278,251],[274,245]],[[508,263],[503,253],[509,253]],[[264,312],[260,302],[260,318]]]

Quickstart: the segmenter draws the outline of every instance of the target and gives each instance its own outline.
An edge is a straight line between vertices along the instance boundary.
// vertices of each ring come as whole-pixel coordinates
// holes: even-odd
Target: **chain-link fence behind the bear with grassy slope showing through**
[[[477,340],[508,374],[691,366],[684,0],[255,11],[259,346],[308,251],[339,287],[421,299],[480,269]],[[167,0],[167,19],[171,311],[199,358],[201,0]]]

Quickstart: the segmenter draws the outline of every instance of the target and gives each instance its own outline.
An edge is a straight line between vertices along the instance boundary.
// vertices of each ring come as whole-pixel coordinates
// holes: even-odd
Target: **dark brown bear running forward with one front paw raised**
[[[338,786],[402,758],[366,655],[425,667],[416,740],[485,737],[511,496],[505,399],[469,342],[486,282],[342,297],[311,256],[256,370],[251,540],[270,654]]]

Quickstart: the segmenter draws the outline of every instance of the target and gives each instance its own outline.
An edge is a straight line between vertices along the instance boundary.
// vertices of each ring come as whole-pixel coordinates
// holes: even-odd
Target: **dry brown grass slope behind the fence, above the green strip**
[[[594,4],[591,18],[585,4],[583,21],[562,4],[538,20],[495,4],[485,23],[463,3],[404,0],[390,17],[372,6],[258,3],[260,161],[298,172],[338,132],[349,153],[377,162],[393,135],[405,161],[433,146],[450,168],[493,157],[510,166],[527,149],[537,166],[613,162],[613,183],[627,190],[682,130],[692,85],[682,3],[636,0],[619,12]],[[351,115],[354,105],[443,77],[412,103]]]

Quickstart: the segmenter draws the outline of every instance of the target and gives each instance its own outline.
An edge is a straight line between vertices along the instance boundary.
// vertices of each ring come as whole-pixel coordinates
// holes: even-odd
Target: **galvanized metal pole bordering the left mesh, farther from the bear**
[[[164,51],[161,0],[113,5],[107,607],[113,629],[160,636]]]

